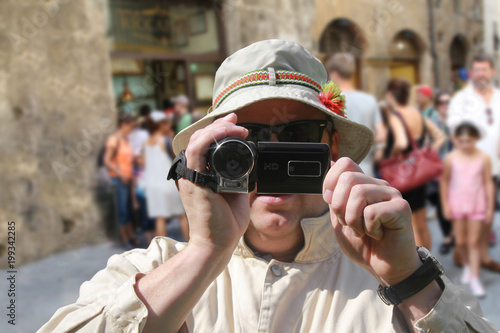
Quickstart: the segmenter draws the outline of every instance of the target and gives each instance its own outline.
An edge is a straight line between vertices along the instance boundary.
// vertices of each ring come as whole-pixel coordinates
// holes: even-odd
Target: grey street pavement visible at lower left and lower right
[[[496,217],[495,230],[500,236],[500,216]],[[433,247],[437,250],[441,242],[441,233],[436,221],[429,222],[434,236]],[[179,239],[180,230],[177,221],[169,225],[169,235]],[[76,301],[79,286],[90,279],[106,265],[107,259],[123,250],[113,243],[83,247],[74,251],[58,253],[38,262],[22,266],[18,270],[17,281],[17,318],[16,326],[6,323],[2,316],[0,332],[31,333],[39,329],[61,306]],[[437,254],[437,251],[434,251]],[[492,256],[500,260],[500,245],[492,249]],[[448,277],[458,283],[460,269],[452,262],[452,256],[440,256],[439,260],[446,269]],[[69,273],[68,273],[69,272]],[[0,290],[7,289],[4,278],[7,273],[1,271]],[[484,315],[493,324],[500,327],[498,297],[500,297],[500,274],[482,271],[482,280],[488,296],[480,300]],[[3,306],[2,306],[3,307]]]

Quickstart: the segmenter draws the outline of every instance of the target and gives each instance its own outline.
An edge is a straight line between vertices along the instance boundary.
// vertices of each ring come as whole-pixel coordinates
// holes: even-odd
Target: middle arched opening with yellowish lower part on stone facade
[[[419,65],[423,44],[411,30],[397,33],[389,46],[390,77],[404,78],[412,85],[420,83]]]

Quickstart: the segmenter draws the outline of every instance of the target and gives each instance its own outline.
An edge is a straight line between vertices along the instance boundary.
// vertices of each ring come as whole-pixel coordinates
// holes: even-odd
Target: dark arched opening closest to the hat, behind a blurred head
[[[348,52],[356,58],[356,74],[353,77],[353,85],[356,88],[361,88],[361,56],[365,46],[366,39],[361,29],[346,18],[331,21],[323,30],[319,40],[323,63],[338,52]]]

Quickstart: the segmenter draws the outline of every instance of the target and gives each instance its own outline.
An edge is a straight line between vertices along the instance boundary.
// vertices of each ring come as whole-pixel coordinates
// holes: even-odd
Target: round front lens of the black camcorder
[[[222,177],[238,179],[252,170],[254,155],[246,144],[226,141],[217,147],[212,160],[215,170]]]

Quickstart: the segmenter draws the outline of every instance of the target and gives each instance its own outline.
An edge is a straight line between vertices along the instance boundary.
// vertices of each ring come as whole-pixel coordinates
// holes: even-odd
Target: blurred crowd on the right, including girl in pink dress
[[[393,78],[379,102],[354,89],[352,55],[337,53],[326,67],[346,97],[348,118],[374,132],[375,144],[360,164],[365,173],[381,178],[383,161],[413,149],[431,146],[438,152],[441,175],[402,193],[412,209],[415,240],[431,249],[430,203],[443,234],[439,251],[448,254],[454,247],[455,263],[463,266],[461,282],[475,296],[485,296],[480,267],[500,272],[500,264],[489,255],[496,242],[492,225],[500,171],[500,90],[492,84],[493,59],[474,57],[468,85],[454,95],[425,85],[414,89],[407,80]]]

